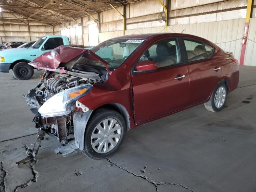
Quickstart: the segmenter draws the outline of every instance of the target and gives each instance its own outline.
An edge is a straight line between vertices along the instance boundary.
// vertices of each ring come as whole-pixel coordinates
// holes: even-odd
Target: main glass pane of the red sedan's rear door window
[[[196,61],[207,58],[204,44],[194,40],[184,40],[188,61]]]

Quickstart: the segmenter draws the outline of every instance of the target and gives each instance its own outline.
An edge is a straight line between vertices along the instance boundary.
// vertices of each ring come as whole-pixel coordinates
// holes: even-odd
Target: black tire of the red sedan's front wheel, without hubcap
[[[118,122],[118,124],[121,127],[121,129],[120,129],[121,136],[120,136],[116,146],[114,146],[112,148],[112,150],[110,150],[109,152],[106,152],[106,153],[98,153],[92,147],[92,133],[94,132],[94,128],[96,128],[96,126],[98,124],[100,124],[100,122],[102,122],[103,120],[108,119],[108,118],[113,118]],[[88,121],[88,124],[86,126],[83,152],[88,157],[95,159],[95,160],[106,158],[106,157],[110,156],[110,154],[112,154],[112,153],[116,152],[116,150],[118,150],[119,146],[122,144],[122,141],[124,140],[125,132],[126,132],[125,121],[121,114],[119,114],[115,110],[111,110],[111,109],[106,109],[106,108],[99,109],[92,114],[92,116],[90,117],[90,120]],[[105,139],[105,138],[102,138],[102,139]]]

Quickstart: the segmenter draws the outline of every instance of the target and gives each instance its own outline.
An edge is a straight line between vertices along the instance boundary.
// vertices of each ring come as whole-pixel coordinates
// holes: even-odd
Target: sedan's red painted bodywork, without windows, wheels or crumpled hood
[[[229,92],[238,86],[239,66],[234,62],[234,57],[208,40],[174,33],[136,34],[115,39],[120,38],[146,41],[119,68],[111,72],[106,82],[94,84],[92,90],[78,100],[92,110],[106,104],[121,104],[129,114],[130,128],[208,101],[221,80],[228,84]],[[203,60],[187,62],[182,58],[182,63],[178,65],[159,68],[154,72],[133,73],[142,54],[165,38],[177,38],[179,41],[189,38],[205,42],[214,47],[214,53],[211,58]],[[220,70],[213,70],[219,67]],[[175,79],[183,75],[185,78]]]

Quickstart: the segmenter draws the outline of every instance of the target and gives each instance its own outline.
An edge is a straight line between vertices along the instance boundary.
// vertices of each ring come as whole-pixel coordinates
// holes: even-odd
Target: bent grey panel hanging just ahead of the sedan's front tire
[[[92,112],[93,110],[89,110],[85,113],[74,112],[73,114],[75,144],[80,150],[84,150],[85,129]]]

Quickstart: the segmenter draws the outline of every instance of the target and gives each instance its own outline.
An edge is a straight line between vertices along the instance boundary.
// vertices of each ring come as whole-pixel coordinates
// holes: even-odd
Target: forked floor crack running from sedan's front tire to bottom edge
[[[188,189],[188,190],[190,190],[191,192],[194,192],[192,189],[190,189],[190,188],[188,188],[188,187],[186,187],[186,186],[183,186],[183,185],[181,185],[181,184],[168,183],[168,182],[157,182],[157,181],[154,181],[154,180],[152,180],[152,179],[150,179],[150,178],[148,178],[148,177],[146,177],[146,176],[144,176],[144,175],[137,175],[137,174],[135,174],[135,173],[133,173],[133,172],[131,172],[131,171],[129,171],[129,170],[127,170],[127,169],[125,169],[125,168],[119,166],[119,165],[117,165],[116,163],[112,162],[109,158],[106,158],[106,159],[108,160],[108,162],[114,164],[114,165],[117,166],[118,168],[120,168],[120,169],[122,169],[122,170],[125,170],[126,172],[128,172],[128,173],[130,173],[130,174],[132,174],[132,175],[134,175],[134,176],[136,176],[136,177],[140,177],[140,178],[142,178],[142,179],[144,179],[144,180],[147,180],[148,182],[150,182],[151,184],[153,184],[153,185],[156,187],[156,192],[158,192],[158,185],[165,185],[165,186],[168,186],[168,185],[176,185],[176,186],[181,186],[181,187],[183,187],[183,188],[185,188],[185,189]]]

